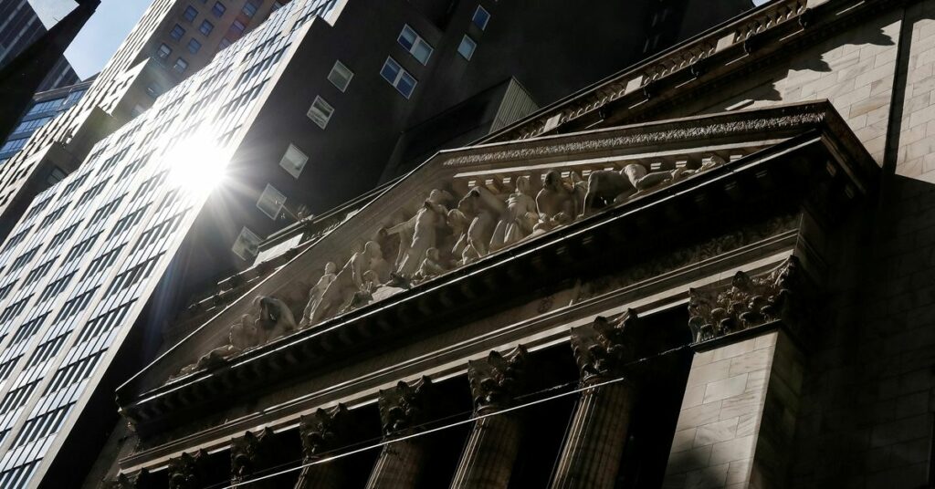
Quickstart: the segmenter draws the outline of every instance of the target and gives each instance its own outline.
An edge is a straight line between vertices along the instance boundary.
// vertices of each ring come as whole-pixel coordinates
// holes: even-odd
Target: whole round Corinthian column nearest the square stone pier
[[[598,317],[594,324],[571,330],[571,348],[585,390],[575,407],[552,488],[612,488],[626,444],[636,388],[626,364],[636,360],[633,339],[636,313],[619,321]],[[609,383],[607,383],[609,382]]]

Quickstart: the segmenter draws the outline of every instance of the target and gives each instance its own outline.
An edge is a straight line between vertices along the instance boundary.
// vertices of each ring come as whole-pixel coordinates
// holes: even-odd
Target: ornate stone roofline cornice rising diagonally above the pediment
[[[831,36],[859,19],[898,8],[905,0],[782,0],[751,10],[733,22],[689,39],[640,65],[599,81],[511,124],[482,142],[511,141],[581,131],[597,124],[646,119],[659,104],[725,76],[743,76],[774,55],[796,52],[801,43]]]

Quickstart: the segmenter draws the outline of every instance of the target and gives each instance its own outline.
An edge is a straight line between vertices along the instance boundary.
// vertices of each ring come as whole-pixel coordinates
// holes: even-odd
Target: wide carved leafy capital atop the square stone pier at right
[[[808,296],[805,287],[808,280],[796,256],[763,276],[740,271],[727,287],[688,291],[688,325],[696,343],[777,320],[796,326]]]

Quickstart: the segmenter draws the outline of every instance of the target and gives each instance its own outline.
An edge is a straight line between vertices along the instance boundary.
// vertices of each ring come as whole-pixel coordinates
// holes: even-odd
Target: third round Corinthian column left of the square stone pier
[[[423,377],[411,384],[400,381],[396,388],[380,391],[380,419],[383,445],[377,463],[370,472],[367,489],[415,487],[422,475],[428,447],[424,437],[398,439],[420,431],[428,421],[426,397],[431,396],[432,381]]]

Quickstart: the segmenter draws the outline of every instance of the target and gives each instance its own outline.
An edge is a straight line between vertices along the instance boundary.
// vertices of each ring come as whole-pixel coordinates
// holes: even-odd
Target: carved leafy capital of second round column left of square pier
[[[507,354],[490,352],[468,361],[468,380],[476,412],[509,408],[519,392],[527,353],[520,345]]]

